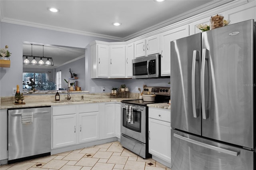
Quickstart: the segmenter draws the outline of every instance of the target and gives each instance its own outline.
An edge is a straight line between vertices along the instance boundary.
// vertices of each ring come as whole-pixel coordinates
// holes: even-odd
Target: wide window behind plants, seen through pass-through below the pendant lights
[[[23,89],[36,90],[55,90],[56,85],[53,81],[48,80],[47,73],[23,73]]]

